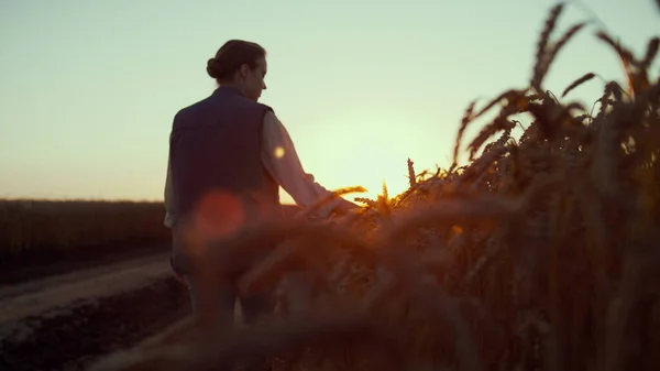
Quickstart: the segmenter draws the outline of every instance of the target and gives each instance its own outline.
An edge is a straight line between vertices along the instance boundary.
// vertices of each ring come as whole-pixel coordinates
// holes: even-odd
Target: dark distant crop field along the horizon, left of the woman
[[[166,243],[162,203],[0,200],[0,265]]]

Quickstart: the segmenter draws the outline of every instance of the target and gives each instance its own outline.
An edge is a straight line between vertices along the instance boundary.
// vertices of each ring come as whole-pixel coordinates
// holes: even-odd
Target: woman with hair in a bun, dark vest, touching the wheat
[[[307,207],[330,194],[307,174],[272,108],[258,103],[266,89],[266,52],[258,44],[228,41],[207,64],[218,88],[177,112],[169,139],[165,225],[173,230],[172,264],[185,276],[199,309],[193,270],[194,237],[226,237],[254,220],[282,215],[279,186]],[[331,207],[355,208],[342,198]],[[265,247],[273,248],[277,241]],[[237,281],[249,268],[218,272],[215,304],[231,323]],[[268,296],[240,297],[245,321],[272,309]]]

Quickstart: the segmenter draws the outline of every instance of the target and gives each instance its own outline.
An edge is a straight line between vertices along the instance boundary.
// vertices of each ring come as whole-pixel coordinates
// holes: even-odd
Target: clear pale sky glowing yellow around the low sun
[[[653,0],[582,3],[638,54],[660,35]],[[0,1],[0,197],[162,199],[173,116],[212,91],[206,63],[229,39],[267,50],[262,101],[319,183],[373,197],[385,181],[398,194],[408,157],[418,171],[450,164],[472,99],[527,84],[552,4]],[[592,17],[569,1],[558,31]],[[560,53],[547,80],[557,95],[587,72],[623,77],[595,31]],[[591,106],[603,86],[571,97]]]

